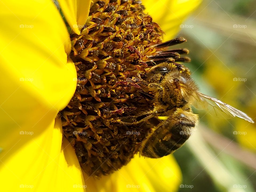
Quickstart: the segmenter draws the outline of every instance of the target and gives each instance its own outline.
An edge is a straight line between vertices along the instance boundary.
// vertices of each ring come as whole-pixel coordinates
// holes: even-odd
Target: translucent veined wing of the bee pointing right
[[[254,123],[254,121],[242,111],[239,111],[238,109],[235,109],[234,107],[208,95],[197,91],[194,91],[192,94],[188,94],[184,89],[182,89],[182,95],[184,99],[194,107],[198,109],[205,109],[209,111],[210,114],[216,115],[217,117],[224,119],[240,117],[250,123]]]

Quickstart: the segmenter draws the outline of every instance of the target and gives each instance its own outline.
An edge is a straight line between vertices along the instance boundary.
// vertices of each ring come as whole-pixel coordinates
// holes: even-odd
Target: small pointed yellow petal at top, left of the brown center
[[[79,35],[80,30],[87,21],[91,1],[59,0],[58,2],[71,29]]]

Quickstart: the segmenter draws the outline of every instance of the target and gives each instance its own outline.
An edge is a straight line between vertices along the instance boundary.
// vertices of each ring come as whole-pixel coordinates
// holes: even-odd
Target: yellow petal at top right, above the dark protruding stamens
[[[181,23],[200,3],[201,0],[143,1],[145,13],[149,13],[166,33],[164,41],[172,39],[178,33]]]

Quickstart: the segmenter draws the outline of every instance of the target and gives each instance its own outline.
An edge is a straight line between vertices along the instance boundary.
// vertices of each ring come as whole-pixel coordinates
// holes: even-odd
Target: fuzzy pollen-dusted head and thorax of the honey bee
[[[160,63],[150,68],[145,81],[158,102],[169,105],[170,108],[180,107],[187,103],[182,93],[198,89],[187,72],[172,63]]]

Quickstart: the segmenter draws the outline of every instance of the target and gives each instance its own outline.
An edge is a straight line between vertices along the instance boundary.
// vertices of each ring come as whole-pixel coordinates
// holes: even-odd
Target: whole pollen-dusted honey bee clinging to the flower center
[[[124,123],[134,125],[151,118],[167,117],[142,141],[139,152],[144,157],[160,158],[184,144],[198,123],[198,115],[192,112],[191,106],[205,109],[217,117],[240,117],[254,123],[242,111],[200,93],[189,69],[183,65],[168,61],[159,63],[150,68],[142,84],[145,86],[141,94],[153,99],[154,109],[137,115],[133,122]]]

